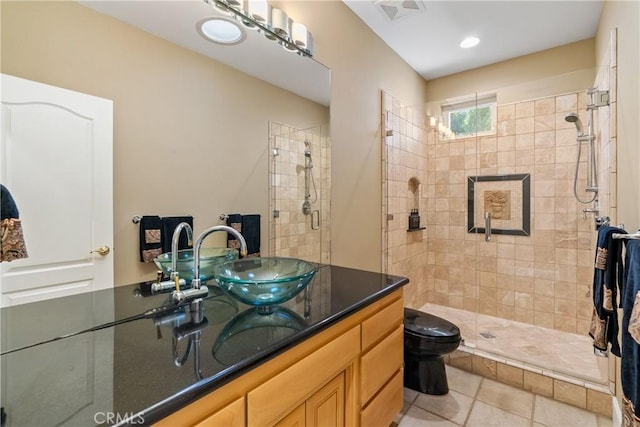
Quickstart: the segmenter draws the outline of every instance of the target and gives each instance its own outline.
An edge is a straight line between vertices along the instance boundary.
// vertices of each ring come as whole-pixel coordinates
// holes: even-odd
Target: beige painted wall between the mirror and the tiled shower
[[[424,102],[425,81],[341,1],[286,1],[331,69],[331,261],[381,271],[381,91]]]

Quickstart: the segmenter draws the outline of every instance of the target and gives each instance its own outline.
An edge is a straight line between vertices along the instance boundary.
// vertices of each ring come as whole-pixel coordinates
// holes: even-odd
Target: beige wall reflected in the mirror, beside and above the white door
[[[198,233],[260,213],[268,250],[269,120],[318,126],[325,107],[77,3],[1,7],[3,73],[114,101],[116,285],[154,277],[134,215],[192,214]]]

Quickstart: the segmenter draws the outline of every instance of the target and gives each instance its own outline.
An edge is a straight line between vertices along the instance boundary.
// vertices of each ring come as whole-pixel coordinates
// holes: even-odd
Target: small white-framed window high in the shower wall
[[[473,98],[442,108],[442,124],[449,137],[490,135],[496,132],[496,95]]]

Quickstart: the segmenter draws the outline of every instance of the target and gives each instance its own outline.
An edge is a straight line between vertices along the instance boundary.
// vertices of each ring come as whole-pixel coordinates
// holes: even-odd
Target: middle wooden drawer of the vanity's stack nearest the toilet
[[[402,367],[404,327],[397,326],[380,344],[362,356],[360,363],[360,405],[369,399]]]

